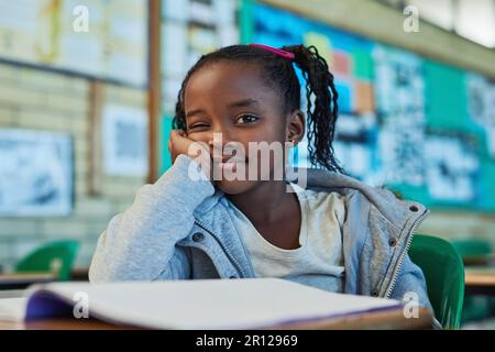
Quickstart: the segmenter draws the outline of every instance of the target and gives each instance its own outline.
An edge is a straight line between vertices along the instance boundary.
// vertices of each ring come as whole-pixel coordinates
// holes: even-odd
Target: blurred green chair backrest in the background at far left
[[[14,271],[51,272],[56,273],[59,280],[68,280],[78,248],[79,243],[74,240],[46,243],[22,258]]]

